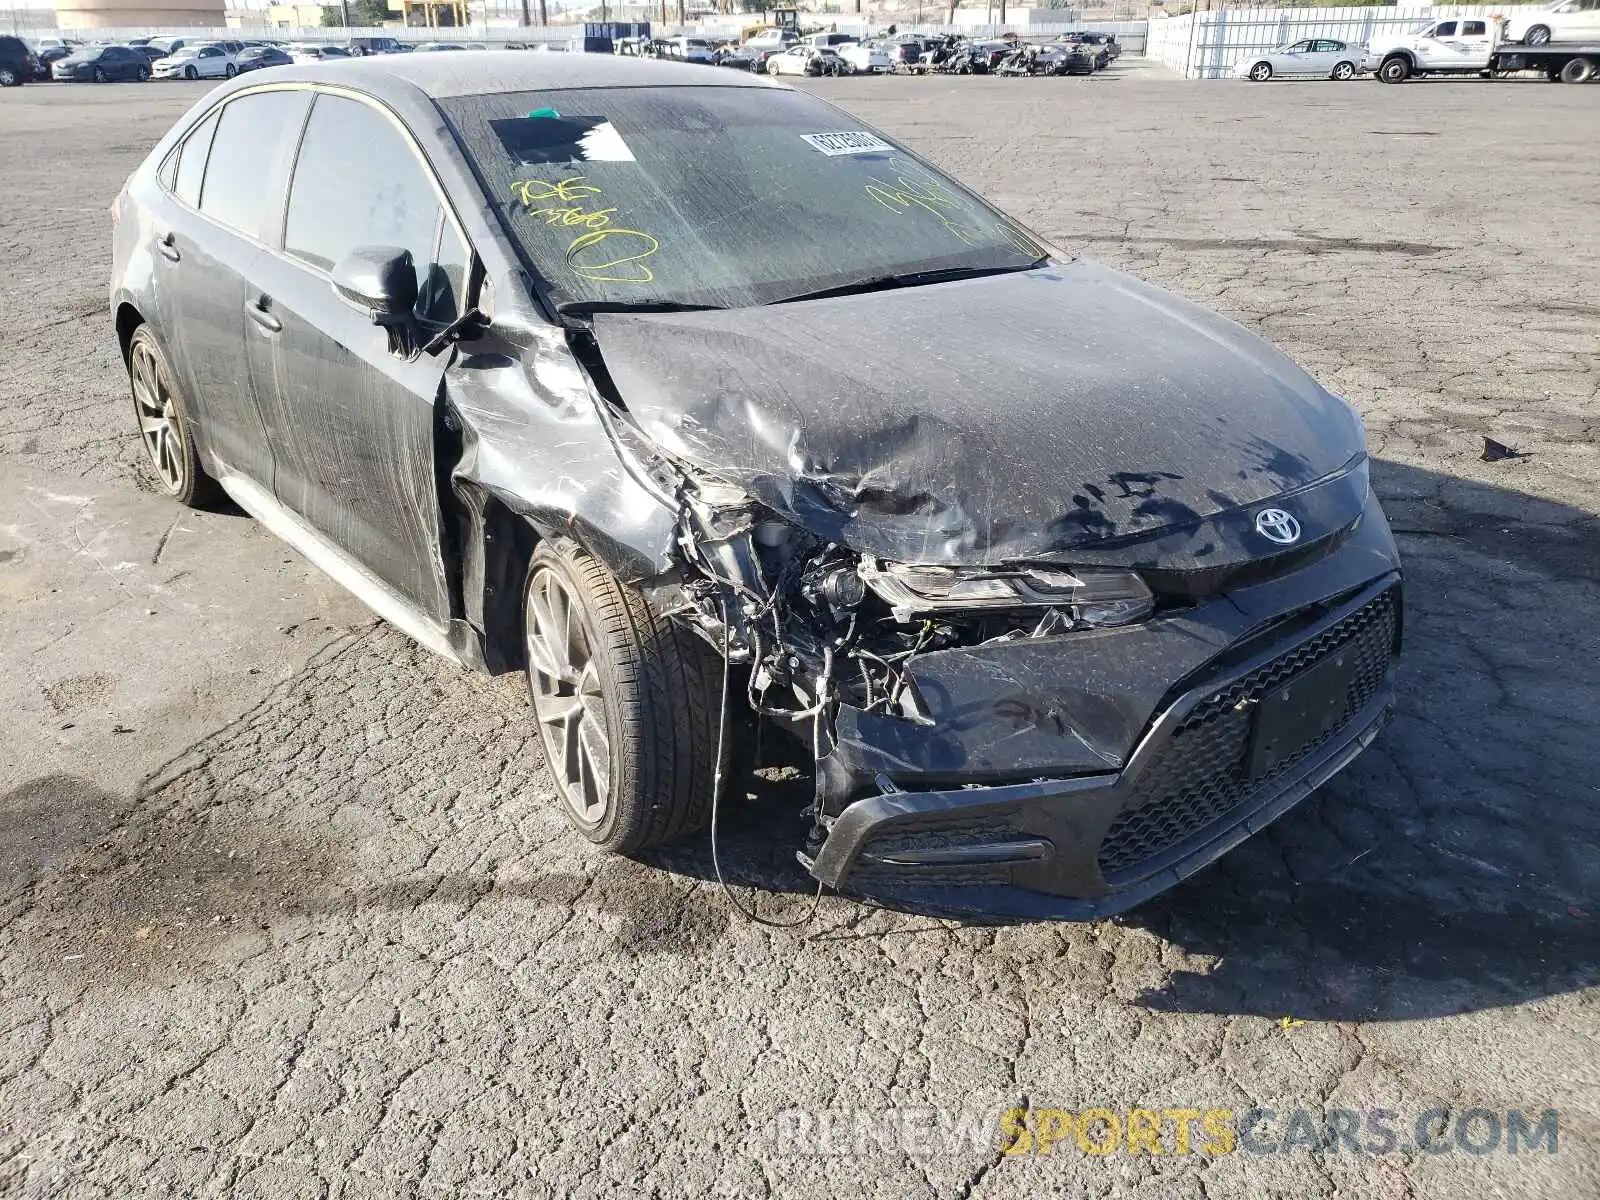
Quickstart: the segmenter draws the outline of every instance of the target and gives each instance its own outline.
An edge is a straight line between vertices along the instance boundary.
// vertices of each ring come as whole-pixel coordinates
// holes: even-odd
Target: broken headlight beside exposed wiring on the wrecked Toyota
[[[862,560],[859,571],[898,621],[926,613],[1062,608],[1082,626],[1126,626],[1154,608],[1150,589],[1134,571],[912,566],[872,558]]]

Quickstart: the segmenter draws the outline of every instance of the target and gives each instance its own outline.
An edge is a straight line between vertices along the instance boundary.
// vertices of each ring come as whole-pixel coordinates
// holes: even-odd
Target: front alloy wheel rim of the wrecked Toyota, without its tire
[[[594,646],[571,590],[541,566],[528,582],[528,678],[550,774],[586,829],[611,797],[611,736]]]

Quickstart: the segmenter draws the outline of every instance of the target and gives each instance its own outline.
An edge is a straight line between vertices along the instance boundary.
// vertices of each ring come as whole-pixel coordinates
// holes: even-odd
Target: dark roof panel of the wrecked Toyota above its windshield
[[[618,54],[530,54],[522,50],[486,50],[470,58],[374,54],[338,62],[306,62],[283,70],[293,74],[280,74],[280,82],[298,77],[373,91],[410,85],[434,99],[565,88],[773,86],[754,75],[742,78],[720,67],[696,67],[688,62]]]

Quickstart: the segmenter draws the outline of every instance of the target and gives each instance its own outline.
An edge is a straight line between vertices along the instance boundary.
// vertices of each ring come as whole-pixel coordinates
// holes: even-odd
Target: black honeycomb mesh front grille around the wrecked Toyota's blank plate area
[[[1306,755],[1338,738],[1349,718],[1378,693],[1394,658],[1400,621],[1398,589],[1390,589],[1338,624],[1301,642],[1197,704],[1139,776],[1128,803],[1101,843],[1107,882],[1131,882],[1139,869],[1224,818],[1234,808],[1274,790],[1274,782]],[[1248,778],[1254,701],[1322,662],[1338,650],[1357,654],[1342,725],[1285,755],[1270,774]],[[1120,877],[1120,878],[1118,878]]]

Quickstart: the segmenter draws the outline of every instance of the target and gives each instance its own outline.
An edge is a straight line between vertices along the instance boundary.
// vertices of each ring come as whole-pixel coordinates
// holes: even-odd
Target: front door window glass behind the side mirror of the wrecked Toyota
[[[357,246],[410,250],[421,298],[438,214],[422,163],[389,117],[344,96],[317,96],[294,163],[285,251],[331,270]]]

